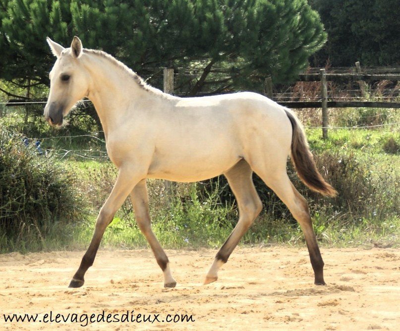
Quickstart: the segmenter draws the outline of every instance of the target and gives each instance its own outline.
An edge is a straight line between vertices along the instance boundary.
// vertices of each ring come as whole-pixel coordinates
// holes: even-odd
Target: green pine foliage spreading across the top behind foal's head
[[[325,42],[307,0],[0,0],[0,78],[48,83],[45,38],[103,49],[139,74],[189,67],[190,94],[292,79]],[[222,70],[216,70],[216,68]],[[198,73],[198,75],[196,75]]]

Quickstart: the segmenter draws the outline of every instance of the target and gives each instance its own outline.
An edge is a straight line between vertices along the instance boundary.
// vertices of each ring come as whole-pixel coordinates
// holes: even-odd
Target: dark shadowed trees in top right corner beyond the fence
[[[400,63],[399,0],[310,0],[328,33],[317,65],[387,66]]]

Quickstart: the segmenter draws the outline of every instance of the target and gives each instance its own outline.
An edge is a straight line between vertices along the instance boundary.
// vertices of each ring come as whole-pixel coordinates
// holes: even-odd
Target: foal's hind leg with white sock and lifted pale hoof
[[[262,209],[261,200],[254,188],[252,173],[249,164],[245,160],[241,160],[224,174],[237,201],[239,220],[229,238],[217,253],[204,284],[218,279],[219,268],[227,263],[230,254]]]

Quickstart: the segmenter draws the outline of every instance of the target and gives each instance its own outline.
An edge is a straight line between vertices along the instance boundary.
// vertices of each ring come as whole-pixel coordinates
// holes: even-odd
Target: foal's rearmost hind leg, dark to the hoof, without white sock
[[[287,177],[286,171],[255,172],[263,179],[277,196],[286,204],[293,217],[300,224],[301,230],[307,243],[311,265],[314,270],[316,285],[325,285],[324,261],[318,247],[317,238],[311,222],[310,211],[306,199],[296,190]]]

